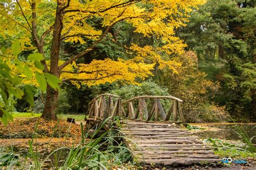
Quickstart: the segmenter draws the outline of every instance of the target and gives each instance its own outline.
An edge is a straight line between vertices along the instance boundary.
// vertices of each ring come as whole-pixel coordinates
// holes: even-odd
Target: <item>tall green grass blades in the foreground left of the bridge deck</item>
[[[116,138],[119,139],[126,137],[122,137],[122,135],[119,135],[118,131],[116,133],[114,132],[114,130],[110,129],[109,131],[104,132],[98,138],[96,138],[99,135],[100,130],[103,129],[104,125],[110,119],[111,118],[108,118],[102,124],[96,126],[95,131],[92,134],[90,134],[89,130],[84,131],[84,126],[81,123],[80,128],[82,134],[78,144],[76,142],[76,139],[74,139],[72,147],[60,147],[55,149],[52,148],[52,152],[47,156],[45,155],[46,149],[43,153],[43,156],[40,155],[38,152],[38,120],[38,123],[35,125],[35,133],[33,134],[32,139],[29,141],[29,151],[22,165],[22,169],[39,170],[45,168],[46,163],[49,165],[48,168],[52,169],[110,169],[114,166],[126,169],[123,165],[124,159],[120,157],[118,151],[122,149],[122,156],[128,155],[127,157],[131,159],[129,153],[130,150],[124,147],[124,145],[119,144],[119,141],[116,140]],[[55,130],[57,130],[57,126],[58,125],[56,124]],[[71,125],[69,126],[69,130],[70,127]],[[66,134],[66,137],[68,137],[69,130]],[[48,142],[48,146],[50,146],[50,141]],[[113,145],[113,143],[115,145]],[[66,154],[64,160],[60,161],[59,153],[66,151],[68,151],[68,153]],[[32,160],[32,164],[29,165],[28,160]],[[49,160],[50,163],[48,163]],[[15,167],[9,166],[9,168]]]

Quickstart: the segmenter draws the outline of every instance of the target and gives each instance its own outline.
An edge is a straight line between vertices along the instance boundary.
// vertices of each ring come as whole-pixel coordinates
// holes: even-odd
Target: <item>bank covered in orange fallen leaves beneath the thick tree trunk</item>
[[[0,138],[32,138],[37,123],[37,138],[80,137],[81,130],[78,124],[71,124],[64,120],[47,121],[41,118],[17,118],[14,122],[10,122],[7,127],[3,124],[0,125]]]

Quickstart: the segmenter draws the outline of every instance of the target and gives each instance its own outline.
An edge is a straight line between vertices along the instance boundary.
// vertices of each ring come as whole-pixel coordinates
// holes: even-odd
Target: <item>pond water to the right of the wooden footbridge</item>
[[[226,140],[241,140],[241,137],[235,133],[237,126],[242,128],[250,138],[256,136],[255,124],[224,124],[224,123],[207,123],[207,124],[191,124],[193,126],[203,127],[204,130],[194,131],[200,138],[219,138]],[[256,144],[256,137],[252,139],[253,144]]]

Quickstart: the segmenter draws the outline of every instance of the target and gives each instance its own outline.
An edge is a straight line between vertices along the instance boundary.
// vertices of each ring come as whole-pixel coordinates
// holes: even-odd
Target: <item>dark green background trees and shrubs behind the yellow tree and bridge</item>
[[[89,101],[101,93],[113,93],[124,99],[139,95],[171,95],[184,100],[185,119],[191,122],[256,120],[256,10],[255,1],[209,0],[190,13],[190,21],[177,28],[175,35],[187,46],[182,55],[171,58],[181,63],[178,73],[156,65],[152,76],[138,79],[140,85],[124,84],[121,81],[95,86],[64,82],[60,87],[57,113],[87,112]],[[92,21],[100,27],[100,21]],[[98,24],[98,25],[97,25]],[[144,37],[134,33],[129,23],[119,22],[110,33],[114,40],[106,38],[95,50],[78,59],[79,64],[89,64],[93,59],[127,59],[123,46],[157,46],[155,37]],[[15,37],[8,42],[0,36],[0,46],[10,47]],[[50,42],[48,39],[45,41]],[[86,44],[65,42],[60,47],[59,58],[68,60],[93,42]],[[49,58],[51,44],[45,49]],[[23,51],[20,59],[28,58],[33,51]],[[170,57],[162,55],[161,57]],[[23,85],[22,88],[28,85]],[[45,94],[36,92],[35,106],[22,99],[13,98],[9,111],[42,113]]]

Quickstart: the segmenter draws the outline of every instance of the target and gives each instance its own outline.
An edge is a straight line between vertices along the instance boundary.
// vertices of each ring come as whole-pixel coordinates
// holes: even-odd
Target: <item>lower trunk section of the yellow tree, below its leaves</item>
[[[47,85],[46,99],[42,118],[46,120],[57,120],[55,109],[57,107],[58,93],[58,91],[52,89],[49,85]]]

